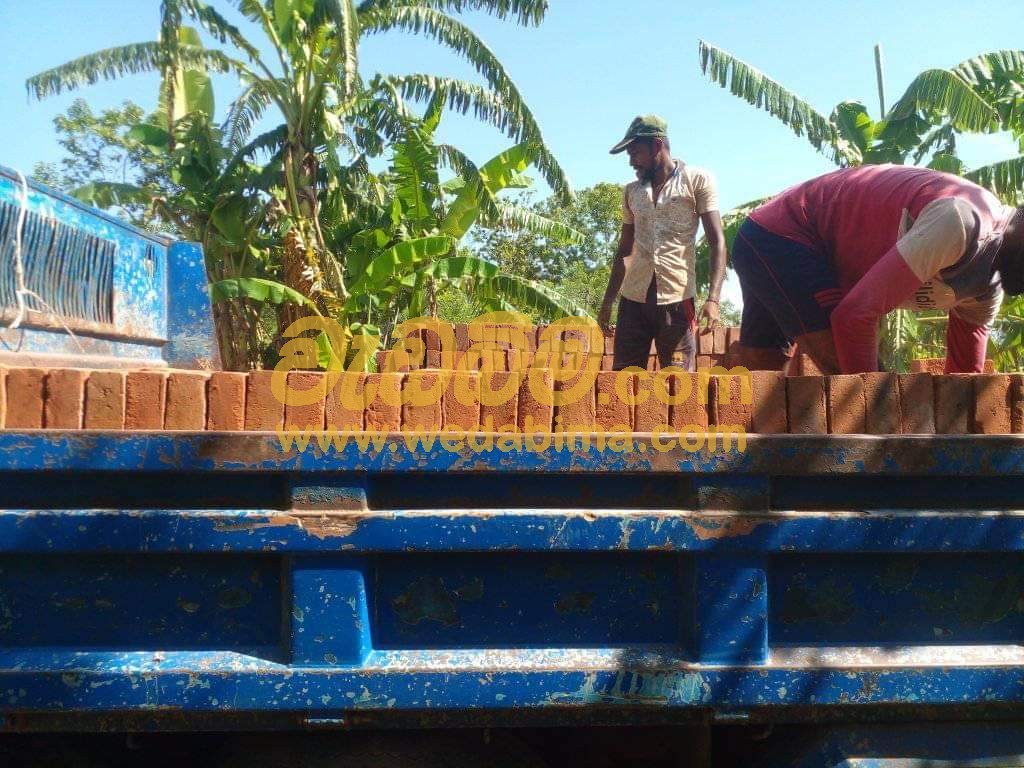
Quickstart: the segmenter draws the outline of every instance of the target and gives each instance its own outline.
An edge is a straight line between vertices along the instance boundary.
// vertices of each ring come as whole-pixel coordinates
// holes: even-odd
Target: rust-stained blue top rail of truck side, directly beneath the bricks
[[[409,447],[391,435],[384,450],[342,451],[311,445],[282,449],[260,432],[26,431],[0,433],[0,457],[12,470],[76,471],[300,471],[372,473],[645,473],[766,476],[998,477],[1024,474],[1024,435],[750,435],[746,449],[660,453],[649,436],[636,436],[629,454],[589,450],[477,453],[434,444]],[[644,446],[644,447],[640,447]]]

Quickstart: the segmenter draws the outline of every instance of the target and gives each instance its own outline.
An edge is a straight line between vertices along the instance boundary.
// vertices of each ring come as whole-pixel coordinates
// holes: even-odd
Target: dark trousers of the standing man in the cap
[[[653,341],[662,368],[675,366],[684,371],[696,370],[695,317],[693,299],[658,304],[657,283],[652,278],[644,303],[625,297],[618,300],[611,367],[622,371],[637,366],[646,371]]]

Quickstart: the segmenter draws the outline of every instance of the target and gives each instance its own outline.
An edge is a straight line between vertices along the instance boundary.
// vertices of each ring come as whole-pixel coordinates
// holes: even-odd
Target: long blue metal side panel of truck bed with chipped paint
[[[641,441],[0,433],[0,711],[1024,701],[1024,438]]]

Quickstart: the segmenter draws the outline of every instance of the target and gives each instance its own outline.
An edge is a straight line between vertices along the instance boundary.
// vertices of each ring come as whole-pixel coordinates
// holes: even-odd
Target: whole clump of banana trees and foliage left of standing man
[[[546,2],[238,0],[237,7],[250,23],[245,33],[202,0],[163,0],[157,40],[82,56],[27,83],[30,94],[44,98],[100,80],[160,73],[153,115],[126,105],[97,117],[80,102],[71,122],[58,127],[68,137],[68,165],[40,168],[38,175],[147,226],[201,242],[223,299],[215,312],[229,367],[267,359],[273,334],[295,316],[296,302],[279,301],[285,296],[304,296],[306,310],[330,310],[360,333],[369,318],[390,322],[436,305],[437,291],[456,284],[472,284],[490,304],[558,305],[542,286],[480,269],[471,274],[467,264],[424,271],[444,263],[439,259],[451,256],[474,224],[573,239],[568,227],[495,198],[528,184],[522,172],[530,164],[563,200],[571,195],[504,66],[450,15],[475,10],[539,24]],[[223,47],[205,48],[186,20]],[[485,85],[429,75],[364,77],[359,41],[384,32],[435,41],[467,60]],[[212,122],[210,72],[231,72],[242,81],[223,126]],[[406,99],[430,102],[422,125],[410,122]],[[477,170],[454,147],[433,144],[445,109],[476,114],[516,145]],[[252,136],[269,115],[278,126]],[[372,173],[369,160],[389,146],[389,172]],[[441,168],[456,171],[451,189],[438,181]],[[285,248],[289,231],[292,246]],[[267,306],[280,314],[268,314]],[[247,340],[241,345],[239,334]]]

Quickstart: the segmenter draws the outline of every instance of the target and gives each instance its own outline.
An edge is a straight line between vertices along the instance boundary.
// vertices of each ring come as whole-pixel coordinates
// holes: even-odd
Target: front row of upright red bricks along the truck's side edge
[[[746,403],[737,376],[601,372],[590,374],[592,383],[582,383],[587,373],[572,370],[345,373],[331,391],[325,374],[292,371],[287,376],[291,393],[280,399],[272,372],[266,371],[0,369],[0,428],[401,431],[489,425],[521,431],[728,426],[798,434],[1024,432],[1022,374],[784,377],[754,372]],[[557,404],[552,393],[573,387],[581,396]],[[456,396],[457,389],[473,394]],[[414,396],[430,390],[435,397]]]

